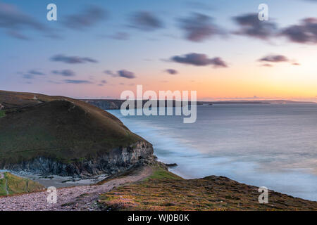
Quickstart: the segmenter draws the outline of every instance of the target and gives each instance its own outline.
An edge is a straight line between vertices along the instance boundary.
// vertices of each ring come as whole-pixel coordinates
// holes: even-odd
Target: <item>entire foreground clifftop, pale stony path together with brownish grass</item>
[[[182,179],[161,164],[144,165],[91,186],[57,189],[57,203],[46,191],[0,198],[0,210],[317,210],[317,202],[269,191],[258,201],[258,187],[223,176]]]

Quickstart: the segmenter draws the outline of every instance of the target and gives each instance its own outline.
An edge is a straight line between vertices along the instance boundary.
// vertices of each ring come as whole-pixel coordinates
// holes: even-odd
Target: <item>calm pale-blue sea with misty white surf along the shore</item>
[[[108,112],[153,143],[159,160],[177,163],[180,176],[228,176],[317,200],[317,105],[198,106],[194,124]]]

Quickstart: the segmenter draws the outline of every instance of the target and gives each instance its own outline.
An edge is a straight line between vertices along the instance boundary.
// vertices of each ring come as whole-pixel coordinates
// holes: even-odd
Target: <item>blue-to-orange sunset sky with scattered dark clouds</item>
[[[317,102],[316,46],[316,0],[0,0],[1,90]]]

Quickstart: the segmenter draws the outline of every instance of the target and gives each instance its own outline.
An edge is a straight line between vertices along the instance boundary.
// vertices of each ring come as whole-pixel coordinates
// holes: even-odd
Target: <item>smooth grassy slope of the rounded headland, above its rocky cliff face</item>
[[[144,141],[110,113],[73,98],[0,91],[0,104],[0,166],[39,156],[76,162]]]

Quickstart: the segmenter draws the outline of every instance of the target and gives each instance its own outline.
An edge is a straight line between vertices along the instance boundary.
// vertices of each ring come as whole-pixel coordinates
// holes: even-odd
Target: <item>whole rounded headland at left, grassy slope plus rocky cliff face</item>
[[[0,104],[0,169],[89,177],[154,160],[151,143],[89,103],[0,91]]]

